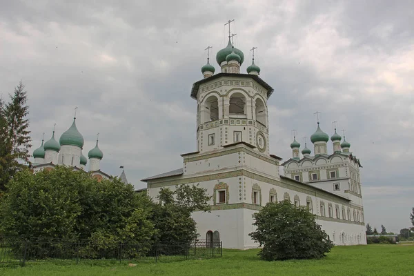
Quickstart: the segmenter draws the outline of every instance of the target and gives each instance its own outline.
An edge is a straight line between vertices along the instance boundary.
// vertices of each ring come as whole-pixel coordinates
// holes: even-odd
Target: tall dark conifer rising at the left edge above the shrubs
[[[10,95],[10,102],[0,101],[0,192],[13,175],[26,168],[29,161],[30,131],[27,92],[20,81]]]

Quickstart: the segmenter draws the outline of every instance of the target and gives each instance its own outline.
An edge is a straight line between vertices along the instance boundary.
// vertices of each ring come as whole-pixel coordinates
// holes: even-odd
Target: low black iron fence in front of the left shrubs
[[[164,262],[221,257],[220,241],[196,240],[189,243],[158,243],[143,246],[135,243],[68,242],[63,239],[21,239],[0,237],[0,264],[27,262],[85,262],[90,260]]]

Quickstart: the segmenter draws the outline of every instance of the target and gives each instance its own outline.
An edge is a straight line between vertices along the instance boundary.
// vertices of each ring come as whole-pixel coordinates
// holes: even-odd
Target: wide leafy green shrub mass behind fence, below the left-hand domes
[[[156,233],[148,202],[118,178],[97,181],[64,166],[36,174],[25,170],[8,184],[0,205],[0,234],[50,247],[82,241],[82,252],[92,257],[124,242],[140,244],[139,254],[145,254]]]

